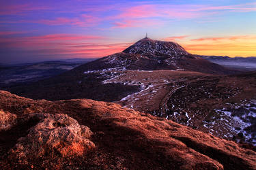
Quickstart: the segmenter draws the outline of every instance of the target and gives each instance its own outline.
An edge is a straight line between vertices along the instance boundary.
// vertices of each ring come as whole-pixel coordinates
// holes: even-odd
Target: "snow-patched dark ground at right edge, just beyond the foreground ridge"
[[[203,126],[214,135],[228,138],[236,136],[237,141],[247,141],[256,146],[256,101],[227,104],[229,107],[215,109],[218,115],[208,122],[203,121]]]

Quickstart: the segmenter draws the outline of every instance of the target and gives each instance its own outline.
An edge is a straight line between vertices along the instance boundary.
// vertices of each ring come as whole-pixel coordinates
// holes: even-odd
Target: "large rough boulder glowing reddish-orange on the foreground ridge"
[[[26,137],[20,137],[10,151],[20,163],[28,164],[35,158],[70,158],[84,156],[95,145],[89,138],[92,132],[66,114],[29,114],[23,122],[39,121],[29,129]]]

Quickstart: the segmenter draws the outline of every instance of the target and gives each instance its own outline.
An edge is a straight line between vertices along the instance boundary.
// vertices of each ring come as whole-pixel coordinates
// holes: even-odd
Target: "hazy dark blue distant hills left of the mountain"
[[[16,65],[0,64],[0,86],[10,86],[20,82],[35,82],[44,78],[51,78],[93,60],[94,58],[74,58]]]

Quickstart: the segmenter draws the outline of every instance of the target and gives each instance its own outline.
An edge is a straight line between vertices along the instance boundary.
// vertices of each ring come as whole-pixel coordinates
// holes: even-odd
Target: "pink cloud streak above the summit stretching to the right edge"
[[[136,5],[133,7],[121,7],[120,14],[110,16],[109,19],[119,19],[119,21],[115,22],[115,28],[126,28],[130,27],[130,25],[137,27],[137,24],[127,21],[141,18],[154,18],[155,20],[203,18],[219,14],[220,10],[251,12],[256,10],[256,7],[252,6],[253,4],[256,5],[256,3],[215,7],[210,5]]]

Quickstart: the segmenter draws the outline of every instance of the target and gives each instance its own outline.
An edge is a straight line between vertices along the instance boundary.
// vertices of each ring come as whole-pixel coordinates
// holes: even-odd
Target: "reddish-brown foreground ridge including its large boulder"
[[[48,169],[256,167],[253,146],[242,148],[233,141],[114,103],[87,99],[33,101],[3,91],[0,91],[0,101],[0,109],[5,112],[16,114],[24,121],[31,118],[39,121],[29,128],[25,138],[16,141],[9,154],[1,153],[1,169],[32,166]],[[39,111],[42,114],[33,114]],[[89,127],[93,135],[83,125]],[[1,148],[6,147],[3,143],[1,141]],[[38,154],[40,158],[35,156]]]

